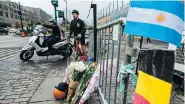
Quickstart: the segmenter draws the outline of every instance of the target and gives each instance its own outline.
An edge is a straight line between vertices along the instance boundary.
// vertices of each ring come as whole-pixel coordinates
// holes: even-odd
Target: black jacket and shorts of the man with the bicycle
[[[81,34],[81,45],[85,45],[85,23],[81,19],[72,20],[70,24],[70,36],[74,33],[74,36]]]

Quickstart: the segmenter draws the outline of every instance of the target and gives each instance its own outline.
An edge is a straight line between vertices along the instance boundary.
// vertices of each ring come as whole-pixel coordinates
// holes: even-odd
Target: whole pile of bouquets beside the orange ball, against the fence
[[[66,73],[65,73],[64,82],[68,83],[69,85],[67,101],[70,102],[70,104],[83,104],[85,100],[87,100],[89,96],[94,92],[95,89],[93,87],[94,85],[92,84],[95,84],[96,82],[98,82],[98,79],[99,79],[98,73],[95,74],[96,69],[99,69],[97,67],[98,67],[97,63],[89,62],[88,65],[86,65],[82,61],[72,62],[67,67],[65,71]],[[94,80],[94,79],[97,79],[97,80]],[[97,87],[98,87],[98,84],[96,85],[96,88]],[[92,91],[90,91],[89,89],[92,89]],[[90,92],[91,94],[89,94]],[[84,101],[82,101],[83,99]]]

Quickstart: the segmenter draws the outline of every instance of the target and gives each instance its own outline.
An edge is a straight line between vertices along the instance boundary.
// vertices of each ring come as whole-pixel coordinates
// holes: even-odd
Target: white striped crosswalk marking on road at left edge
[[[0,49],[0,61],[13,57],[18,54],[21,49]]]

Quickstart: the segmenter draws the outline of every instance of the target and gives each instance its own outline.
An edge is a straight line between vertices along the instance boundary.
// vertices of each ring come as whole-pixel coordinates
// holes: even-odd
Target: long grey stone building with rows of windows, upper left
[[[18,3],[11,1],[0,0],[0,23],[11,24],[14,28],[20,28],[21,21],[19,15]],[[37,22],[45,22],[51,16],[40,8],[32,8],[28,6],[21,6],[23,25],[35,24]]]

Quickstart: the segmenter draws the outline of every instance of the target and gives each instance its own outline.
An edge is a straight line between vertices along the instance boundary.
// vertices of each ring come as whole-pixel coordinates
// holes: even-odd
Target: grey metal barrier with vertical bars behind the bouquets
[[[97,62],[100,64],[98,90],[104,104],[126,102],[126,97],[122,98],[118,92],[117,82],[120,60],[125,57],[126,48],[126,42],[122,39],[123,26],[124,20],[118,19],[97,28]]]

